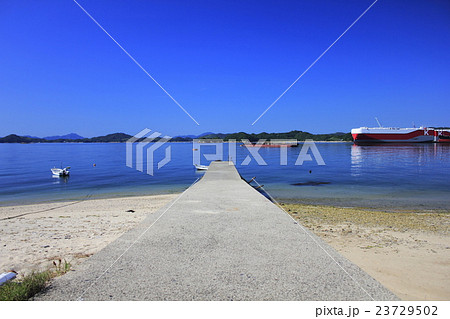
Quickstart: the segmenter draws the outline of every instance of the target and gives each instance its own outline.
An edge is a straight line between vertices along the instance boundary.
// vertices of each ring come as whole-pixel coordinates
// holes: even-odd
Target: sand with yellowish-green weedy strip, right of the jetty
[[[402,300],[450,300],[450,212],[282,206]]]

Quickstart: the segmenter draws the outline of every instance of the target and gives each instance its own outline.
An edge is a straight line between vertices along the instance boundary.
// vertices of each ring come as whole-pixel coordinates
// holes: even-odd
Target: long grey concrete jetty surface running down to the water
[[[36,300],[397,300],[229,162]]]

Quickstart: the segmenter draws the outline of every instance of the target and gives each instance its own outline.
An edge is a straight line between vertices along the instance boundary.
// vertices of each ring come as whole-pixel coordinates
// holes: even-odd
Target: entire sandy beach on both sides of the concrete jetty
[[[0,272],[77,264],[177,194],[0,207]],[[450,300],[450,213],[282,204],[403,300]]]

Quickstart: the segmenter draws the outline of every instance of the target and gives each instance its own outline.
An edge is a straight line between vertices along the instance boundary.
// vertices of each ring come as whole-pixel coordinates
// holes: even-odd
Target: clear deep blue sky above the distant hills
[[[0,136],[450,125],[450,2],[0,1]]]

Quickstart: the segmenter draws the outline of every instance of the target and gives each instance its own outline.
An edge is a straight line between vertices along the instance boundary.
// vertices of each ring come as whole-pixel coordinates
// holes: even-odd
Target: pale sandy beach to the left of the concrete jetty
[[[177,195],[152,195],[0,207],[0,272],[73,267]]]

